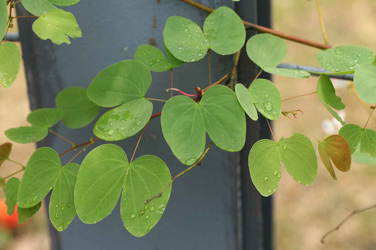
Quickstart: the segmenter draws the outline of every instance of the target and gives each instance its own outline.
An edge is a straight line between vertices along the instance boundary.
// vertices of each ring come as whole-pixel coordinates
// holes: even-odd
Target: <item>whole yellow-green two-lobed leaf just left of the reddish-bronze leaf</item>
[[[252,182],[263,196],[276,191],[281,177],[281,163],[297,183],[311,185],[317,175],[317,158],[312,142],[294,133],[279,142],[267,139],[256,142],[249,152],[248,165]]]

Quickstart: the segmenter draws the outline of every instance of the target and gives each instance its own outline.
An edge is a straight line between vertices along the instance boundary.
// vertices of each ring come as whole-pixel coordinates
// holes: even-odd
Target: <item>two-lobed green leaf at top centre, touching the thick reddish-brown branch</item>
[[[219,7],[205,19],[204,33],[193,21],[170,16],[163,31],[165,45],[171,54],[182,61],[197,61],[208,49],[221,55],[237,52],[246,37],[244,24],[229,7]]]

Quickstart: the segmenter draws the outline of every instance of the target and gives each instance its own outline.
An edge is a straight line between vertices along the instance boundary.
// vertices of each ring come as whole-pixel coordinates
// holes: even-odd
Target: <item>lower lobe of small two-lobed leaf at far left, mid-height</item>
[[[45,127],[17,127],[5,130],[4,134],[11,141],[26,144],[45,138],[48,129]]]

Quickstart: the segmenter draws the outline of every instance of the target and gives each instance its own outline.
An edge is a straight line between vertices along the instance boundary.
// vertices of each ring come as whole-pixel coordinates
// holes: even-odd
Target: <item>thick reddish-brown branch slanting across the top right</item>
[[[208,6],[205,6],[203,4],[197,3],[197,2],[192,1],[192,0],[180,0],[180,1],[182,1],[184,3],[188,3],[188,4],[190,4],[190,5],[192,5],[196,8],[205,10],[206,12],[209,12],[209,13],[214,11],[214,9],[209,8]],[[243,21],[244,26],[246,28],[250,28],[252,30],[257,30],[257,31],[260,31],[260,32],[263,32],[263,33],[273,34],[275,36],[279,36],[279,37],[282,37],[282,38],[287,39],[287,40],[302,43],[302,44],[309,45],[309,46],[319,48],[319,49],[332,48],[332,46],[330,46],[330,45],[326,45],[326,44],[323,44],[323,43],[318,43],[318,42],[314,42],[314,41],[311,41],[311,40],[303,39],[301,37],[289,35],[289,34],[286,34],[286,33],[280,32],[280,31],[276,31],[276,30],[272,30],[271,28],[263,27],[263,26],[260,26],[260,25],[257,25],[257,24],[253,24],[251,22],[244,21],[244,20],[242,20],[242,21]]]

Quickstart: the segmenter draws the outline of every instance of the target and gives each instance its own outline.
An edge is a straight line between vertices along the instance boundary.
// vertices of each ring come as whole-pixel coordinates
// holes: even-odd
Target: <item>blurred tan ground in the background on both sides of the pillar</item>
[[[243,0],[246,1],[246,0]],[[374,0],[321,0],[321,10],[329,43],[332,46],[360,45],[376,51],[376,1]],[[272,0],[273,28],[288,34],[323,42],[315,0]],[[17,19],[10,32],[17,32]],[[17,43],[17,42],[16,42]],[[287,57],[284,62],[319,67],[316,55],[319,49],[286,41]],[[20,46],[20,44],[18,44]],[[370,112],[367,104],[359,102],[352,91],[352,82],[333,79],[336,94],[346,108],[339,112],[346,123],[364,126]],[[273,76],[282,99],[311,93],[316,89],[317,77],[306,79]],[[0,131],[11,127],[27,126],[30,112],[23,63],[12,87],[0,88]],[[331,117],[316,95],[299,97],[283,102],[283,110],[301,109],[297,121],[319,140],[338,133],[340,125]],[[17,114],[17,115],[12,115]],[[367,128],[376,130],[376,119],[371,118]],[[290,137],[294,132],[305,133],[317,150],[317,142],[299,125],[288,118],[273,123],[278,140]],[[8,142],[0,133],[0,144]],[[13,144],[10,159],[26,165],[35,150],[34,144]],[[14,163],[1,165],[1,175],[7,176],[19,169]],[[284,170],[284,168],[282,168]],[[372,165],[353,163],[349,172],[336,171],[334,181],[318,157],[318,175],[315,184],[303,186],[282,171],[279,188],[272,195],[274,202],[274,247],[276,250],[301,249],[376,249],[376,209],[355,215],[339,231],[329,235],[325,244],[320,238],[334,228],[353,210],[376,203]],[[21,178],[22,174],[16,175]],[[4,194],[0,192],[0,222],[4,216]],[[47,216],[41,210],[23,225],[0,225],[0,250],[49,250]],[[1,224],[1,223],[0,223]]]

